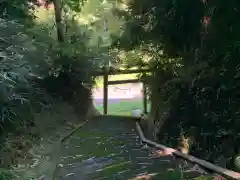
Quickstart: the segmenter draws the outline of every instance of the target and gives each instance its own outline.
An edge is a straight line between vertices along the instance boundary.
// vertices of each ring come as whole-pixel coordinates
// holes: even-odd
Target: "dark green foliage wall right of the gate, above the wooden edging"
[[[168,106],[160,135],[170,129],[169,136],[173,132],[179,135],[181,128],[188,132],[192,126],[197,129],[197,146],[202,147],[195,152],[210,149],[215,153],[209,160],[219,153],[239,153],[239,1],[141,0],[126,4],[127,28],[117,47],[150,53],[145,65],[156,69],[149,77],[150,96],[156,101],[153,109],[158,111],[158,104]],[[147,44],[154,48],[146,48]],[[137,54],[137,58],[142,61],[143,56]],[[129,60],[131,64],[133,58]],[[158,115],[156,124],[161,117]],[[219,143],[226,136],[234,152],[227,153]]]

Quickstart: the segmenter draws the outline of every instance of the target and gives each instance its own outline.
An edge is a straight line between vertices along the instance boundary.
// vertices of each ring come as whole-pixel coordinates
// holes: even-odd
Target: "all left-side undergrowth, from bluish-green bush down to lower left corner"
[[[62,100],[86,112],[94,54],[58,44],[42,27],[5,19],[0,27],[0,167],[9,168],[38,140],[34,116],[42,109]]]

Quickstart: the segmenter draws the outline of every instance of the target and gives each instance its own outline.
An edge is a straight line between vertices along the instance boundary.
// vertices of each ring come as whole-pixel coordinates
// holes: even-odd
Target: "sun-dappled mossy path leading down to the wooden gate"
[[[56,179],[192,179],[205,172],[191,164],[144,146],[135,121],[99,116],[87,123],[61,147]],[[164,154],[164,155],[163,155]]]

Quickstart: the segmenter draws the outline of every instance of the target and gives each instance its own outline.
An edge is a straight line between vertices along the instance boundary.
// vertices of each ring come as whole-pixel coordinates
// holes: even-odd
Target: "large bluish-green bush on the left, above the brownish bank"
[[[68,100],[84,83],[91,88],[101,55],[59,44],[44,26],[0,19],[0,27],[0,132],[33,125],[32,113],[53,95]]]

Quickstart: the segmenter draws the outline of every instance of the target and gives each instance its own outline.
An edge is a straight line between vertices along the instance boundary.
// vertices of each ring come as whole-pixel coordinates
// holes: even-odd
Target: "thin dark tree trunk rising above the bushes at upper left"
[[[55,21],[57,26],[57,38],[59,42],[64,42],[64,29],[62,24],[62,3],[61,0],[54,0]]]

